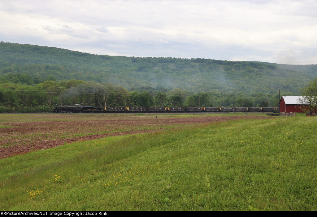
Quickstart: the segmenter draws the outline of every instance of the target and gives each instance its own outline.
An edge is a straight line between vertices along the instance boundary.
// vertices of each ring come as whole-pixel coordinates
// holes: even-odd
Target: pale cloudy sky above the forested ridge
[[[317,64],[317,0],[0,0],[0,40],[114,56]]]

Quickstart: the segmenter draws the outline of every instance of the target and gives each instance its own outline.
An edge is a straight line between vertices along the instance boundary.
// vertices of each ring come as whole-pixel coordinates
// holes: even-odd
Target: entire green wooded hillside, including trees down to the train
[[[202,58],[115,57],[0,43],[0,112],[52,105],[278,107],[317,65]],[[199,93],[200,92],[200,93]]]

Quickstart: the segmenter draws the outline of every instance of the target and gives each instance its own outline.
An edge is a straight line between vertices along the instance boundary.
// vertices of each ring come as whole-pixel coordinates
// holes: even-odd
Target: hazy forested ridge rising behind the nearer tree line
[[[210,51],[212,52],[212,51]],[[127,90],[175,87],[225,93],[298,93],[317,76],[317,65],[226,61],[202,58],[94,55],[55,47],[0,44],[0,83],[45,80],[108,82]]]

